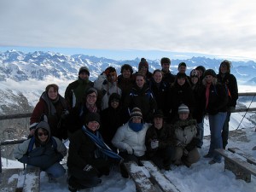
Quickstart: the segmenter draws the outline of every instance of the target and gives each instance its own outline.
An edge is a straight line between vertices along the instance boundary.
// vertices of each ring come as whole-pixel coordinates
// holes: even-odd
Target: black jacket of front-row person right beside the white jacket
[[[154,140],[159,141],[158,148],[151,148],[151,142]],[[164,124],[160,130],[155,128],[154,125],[151,125],[148,128],[148,131],[146,133],[146,147],[148,157],[153,156],[159,149],[161,150],[172,145],[173,141],[170,125]]]

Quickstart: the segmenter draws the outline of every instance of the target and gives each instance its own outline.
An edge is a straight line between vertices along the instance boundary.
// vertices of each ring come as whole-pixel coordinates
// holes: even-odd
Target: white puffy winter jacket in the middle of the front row
[[[112,143],[113,146],[119,148],[120,151],[125,151],[126,148],[132,148],[134,155],[141,157],[146,152],[145,137],[149,124],[144,124],[141,131],[132,131],[129,127],[129,122],[119,127],[116,131]]]

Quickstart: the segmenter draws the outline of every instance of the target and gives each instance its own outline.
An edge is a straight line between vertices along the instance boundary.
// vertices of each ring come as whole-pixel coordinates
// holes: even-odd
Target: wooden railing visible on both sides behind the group
[[[253,99],[254,99],[254,96],[256,96],[256,92],[239,93],[238,96],[253,96]],[[233,113],[252,112],[252,111],[256,111],[256,108],[236,108],[235,112],[233,112]],[[31,117],[31,115],[32,115],[32,113],[18,113],[18,114],[1,115],[0,120],[28,118],[28,117]],[[3,141],[0,143],[0,172],[2,172],[1,146],[23,143],[25,140],[26,139]]]

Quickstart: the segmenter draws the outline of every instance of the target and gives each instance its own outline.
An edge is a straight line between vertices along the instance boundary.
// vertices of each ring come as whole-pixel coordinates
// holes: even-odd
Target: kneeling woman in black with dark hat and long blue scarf
[[[108,175],[110,167],[122,158],[102,140],[99,113],[88,113],[83,127],[70,137],[67,157],[68,189],[77,191],[102,183],[99,177]]]

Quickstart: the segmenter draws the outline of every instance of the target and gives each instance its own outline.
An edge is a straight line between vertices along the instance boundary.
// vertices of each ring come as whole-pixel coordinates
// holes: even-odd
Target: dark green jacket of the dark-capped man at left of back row
[[[93,82],[89,79],[83,80],[79,78],[71,84],[68,84],[65,90],[65,99],[68,107],[73,108],[82,102],[86,91],[90,87],[93,87]]]

